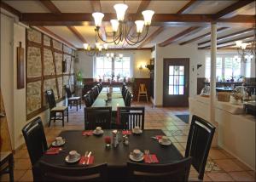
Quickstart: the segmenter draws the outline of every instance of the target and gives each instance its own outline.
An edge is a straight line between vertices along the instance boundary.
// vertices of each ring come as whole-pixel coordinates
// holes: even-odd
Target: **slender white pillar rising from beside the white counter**
[[[216,54],[217,54],[217,25],[211,24],[211,97],[210,97],[210,122],[216,127],[212,145],[218,145],[218,123],[215,122],[216,100]]]

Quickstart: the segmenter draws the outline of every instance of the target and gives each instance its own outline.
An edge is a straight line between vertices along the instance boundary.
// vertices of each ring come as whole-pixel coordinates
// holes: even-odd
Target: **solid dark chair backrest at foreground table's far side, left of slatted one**
[[[112,107],[84,107],[84,128],[110,129]]]

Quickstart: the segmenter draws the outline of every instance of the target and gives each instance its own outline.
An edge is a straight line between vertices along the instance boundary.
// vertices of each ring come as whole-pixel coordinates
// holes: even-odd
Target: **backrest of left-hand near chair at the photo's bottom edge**
[[[103,181],[107,163],[97,166],[61,167],[39,162],[42,181]]]

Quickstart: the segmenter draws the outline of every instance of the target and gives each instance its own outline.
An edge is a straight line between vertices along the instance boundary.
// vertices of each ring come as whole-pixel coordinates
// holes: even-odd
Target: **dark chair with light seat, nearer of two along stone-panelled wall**
[[[67,106],[56,106],[55,102],[55,94],[52,89],[45,91],[46,97],[49,103],[49,123],[50,126],[51,120],[61,120],[62,126],[64,127],[64,117],[65,114],[67,115],[67,122],[68,122],[68,107]],[[56,115],[57,113],[61,113],[61,115]]]

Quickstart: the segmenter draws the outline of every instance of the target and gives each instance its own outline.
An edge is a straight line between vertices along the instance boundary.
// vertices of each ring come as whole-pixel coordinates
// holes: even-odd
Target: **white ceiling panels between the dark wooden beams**
[[[237,0],[229,0],[229,1],[201,1],[199,3],[195,3],[195,6],[193,9],[189,10],[189,12],[185,12],[186,14],[215,14],[218,11],[225,9],[226,7],[230,6],[232,3],[236,3]],[[4,0],[4,3],[8,3],[11,7],[19,10],[21,13],[50,13],[49,9],[46,9],[43,5],[43,3],[40,3],[40,1],[14,1],[14,0]],[[90,3],[90,1],[84,1],[84,0],[52,0],[52,3],[55,4],[57,9],[60,9],[62,13],[92,13],[93,8]],[[123,3],[123,1],[106,1],[101,0],[101,9],[102,13],[114,13],[113,5],[115,3]],[[141,3],[141,1],[125,1],[125,3],[128,5],[127,12],[128,13],[137,13],[137,9]],[[189,1],[185,0],[177,0],[177,1],[170,1],[170,0],[152,0],[148,4],[148,9],[153,9],[156,14],[176,14],[179,9],[182,9],[183,6],[189,3]],[[250,5],[247,5],[246,7],[242,9],[236,10],[236,14],[247,14],[247,15],[253,15],[255,14],[254,9],[255,3],[251,3]],[[234,15],[236,15],[234,14]],[[67,40],[69,43],[72,43],[77,48],[83,48],[83,42],[79,40],[78,37],[76,37],[72,31],[70,31],[67,26],[45,26],[49,31],[53,31],[58,36],[62,37],[63,39]],[[145,44],[143,48],[151,48],[154,46],[154,44],[161,43],[165,41],[166,39],[175,36],[177,33],[187,29],[189,26],[172,26],[172,27],[166,27],[165,31],[160,32],[159,35],[154,37],[153,40],[151,40],[150,43]],[[95,31],[94,26],[75,26],[75,28],[79,31],[79,33],[84,37],[84,39],[90,43],[95,43]],[[156,31],[159,27],[158,26],[152,26],[150,27],[148,31],[148,35],[152,34],[154,31]],[[228,35],[230,33],[241,31],[247,29],[244,28],[230,28],[228,30],[222,31],[218,33],[218,37]],[[111,31],[110,26],[106,26],[105,30]],[[195,32],[192,35],[189,35],[188,37],[184,37],[183,39],[179,40],[177,43],[182,43],[184,41],[190,40],[193,37],[198,37],[202,34],[205,34],[209,32],[209,27],[206,27],[205,29],[202,29],[201,31]],[[109,33],[108,33],[109,34]],[[247,35],[251,35],[253,32],[241,35],[240,37],[244,37]],[[235,37],[236,38],[236,37]],[[201,43],[206,40],[209,40],[210,37],[201,38],[198,41],[195,41],[194,43]],[[229,39],[225,39],[224,41],[228,41]],[[139,45],[139,44],[138,44]],[[137,46],[138,46],[137,45]],[[207,45],[207,44],[206,44]],[[206,46],[203,45],[203,46]],[[125,47],[137,47],[137,46],[128,46],[125,45]],[[121,48],[122,44],[119,46],[113,46],[110,45],[112,48]]]

